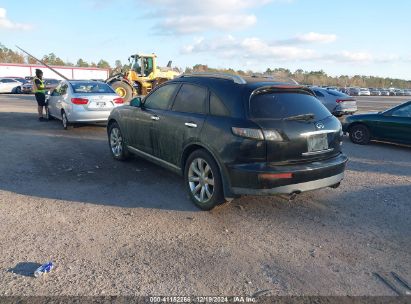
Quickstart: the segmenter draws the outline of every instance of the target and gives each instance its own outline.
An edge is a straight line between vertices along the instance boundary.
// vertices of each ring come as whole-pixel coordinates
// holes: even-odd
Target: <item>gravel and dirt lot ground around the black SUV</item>
[[[104,127],[64,131],[0,95],[0,295],[395,295],[377,274],[405,293],[411,149],[344,150],[338,189],[203,212],[178,176],[114,161]]]

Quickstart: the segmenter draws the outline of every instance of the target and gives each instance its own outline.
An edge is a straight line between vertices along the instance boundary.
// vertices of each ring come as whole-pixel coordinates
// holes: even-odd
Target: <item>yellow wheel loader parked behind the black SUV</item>
[[[128,102],[136,95],[147,95],[155,86],[181,74],[180,71],[171,68],[171,61],[167,67],[160,68],[156,59],[154,53],[131,55],[128,58],[129,68],[111,76],[106,83]]]

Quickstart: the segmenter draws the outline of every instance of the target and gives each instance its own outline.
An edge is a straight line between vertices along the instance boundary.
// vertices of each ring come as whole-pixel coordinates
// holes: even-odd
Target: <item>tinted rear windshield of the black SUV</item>
[[[250,100],[252,118],[283,119],[304,114],[314,114],[316,120],[331,115],[317,98],[305,93],[266,93],[256,95]]]

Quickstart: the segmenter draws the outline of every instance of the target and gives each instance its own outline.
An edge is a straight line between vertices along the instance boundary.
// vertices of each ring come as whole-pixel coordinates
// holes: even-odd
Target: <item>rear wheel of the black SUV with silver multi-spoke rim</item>
[[[191,200],[199,208],[210,210],[224,203],[219,167],[206,151],[197,150],[190,155],[184,177]]]

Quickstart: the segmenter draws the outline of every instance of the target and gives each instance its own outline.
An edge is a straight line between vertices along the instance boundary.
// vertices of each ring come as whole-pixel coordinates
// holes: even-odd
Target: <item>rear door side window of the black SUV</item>
[[[206,113],[207,90],[191,84],[183,84],[177,94],[173,111],[184,113]]]

